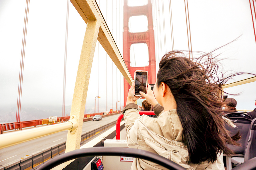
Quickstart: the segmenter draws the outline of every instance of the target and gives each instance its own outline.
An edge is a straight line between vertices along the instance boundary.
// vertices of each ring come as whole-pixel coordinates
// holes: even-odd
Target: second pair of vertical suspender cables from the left
[[[68,46],[68,16],[69,16],[69,0],[67,0],[67,15],[66,15],[66,35],[65,35],[66,37],[65,37],[64,75],[63,75],[63,95],[62,95],[62,117],[65,116],[67,46]]]

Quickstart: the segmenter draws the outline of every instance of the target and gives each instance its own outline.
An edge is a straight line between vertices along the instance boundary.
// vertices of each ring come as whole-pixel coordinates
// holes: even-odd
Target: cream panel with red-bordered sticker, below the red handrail
[[[106,139],[104,147],[128,147],[126,140]],[[133,158],[122,156],[102,156],[104,170],[122,169],[130,170]]]

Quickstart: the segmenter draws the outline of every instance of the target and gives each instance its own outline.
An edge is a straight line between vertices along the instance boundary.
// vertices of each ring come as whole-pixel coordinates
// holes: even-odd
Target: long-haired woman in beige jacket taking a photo
[[[159,154],[189,170],[224,169],[218,154],[232,154],[226,143],[237,143],[221,119],[221,85],[228,78],[218,79],[214,60],[206,54],[192,61],[182,51],[163,56],[154,93],[150,85],[147,94],[140,92],[157,118],[139,115],[133,83],[123,110],[129,147]],[[137,158],[131,169],[164,168]]]

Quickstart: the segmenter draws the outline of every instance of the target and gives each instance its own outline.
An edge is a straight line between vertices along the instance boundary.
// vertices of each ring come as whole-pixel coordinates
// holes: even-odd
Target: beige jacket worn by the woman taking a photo
[[[159,104],[154,111],[162,110]],[[159,154],[188,170],[224,170],[224,164],[220,160],[213,164],[187,164],[188,150],[182,143],[182,125],[176,109],[162,111],[158,118],[150,118],[147,115],[139,115],[136,104],[128,104],[124,108],[124,121],[128,147],[143,149]],[[132,170],[157,170],[164,167],[136,158],[133,161]]]

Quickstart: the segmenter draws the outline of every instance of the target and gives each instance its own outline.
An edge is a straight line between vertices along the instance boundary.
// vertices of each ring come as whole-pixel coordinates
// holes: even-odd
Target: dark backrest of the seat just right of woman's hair
[[[240,132],[242,138],[238,141],[241,146],[235,146],[231,144],[227,144],[227,147],[232,149],[235,154],[245,154],[245,149],[248,143],[249,134],[250,134],[250,125],[252,118],[245,113],[235,112],[235,113],[228,113],[225,115],[233,123],[236,125],[236,128],[231,127],[230,125],[226,124],[225,128],[230,131],[230,136],[235,135],[238,131]]]

